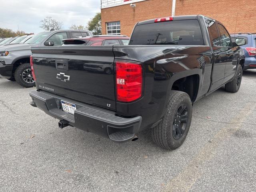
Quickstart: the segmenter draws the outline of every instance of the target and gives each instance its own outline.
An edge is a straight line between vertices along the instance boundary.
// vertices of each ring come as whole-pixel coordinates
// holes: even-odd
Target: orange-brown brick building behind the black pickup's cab
[[[142,20],[202,14],[222,22],[230,33],[256,33],[256,0],[101,0],[102,34],[130,36]],[[135,7],[130,6],[135,5]]]

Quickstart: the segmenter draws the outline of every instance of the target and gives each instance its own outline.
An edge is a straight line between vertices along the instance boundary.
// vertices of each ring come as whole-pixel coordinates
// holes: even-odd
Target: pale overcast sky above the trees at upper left
[[[100,0],[0,0],[0,28],[38,33],[40,20],[51,16],[63,22],[63,29],[72,24],[86,26],[100,12]]]

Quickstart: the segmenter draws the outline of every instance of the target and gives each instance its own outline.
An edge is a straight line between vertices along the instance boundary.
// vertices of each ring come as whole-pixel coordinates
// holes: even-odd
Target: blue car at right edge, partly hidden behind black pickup
[[[256,34],[237,33],[231,34],[231,38],[244,50],[244,70],[256,69]]]

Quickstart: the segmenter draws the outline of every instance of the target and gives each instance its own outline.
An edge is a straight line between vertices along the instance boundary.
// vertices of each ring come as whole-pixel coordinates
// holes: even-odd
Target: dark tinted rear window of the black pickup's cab
[[[130,45],[204,45],[198,20],[178,20],[138,25]]]

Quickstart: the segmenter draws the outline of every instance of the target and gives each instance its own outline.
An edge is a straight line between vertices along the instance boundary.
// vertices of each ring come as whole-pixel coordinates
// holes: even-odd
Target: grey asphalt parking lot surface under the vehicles
[[[190,132],[174,151],[150,132],[116,144],[28,103],[28,93],[0,78],[0,191],[256,191],[256,70],[236,94],[221,88],[193,106]]]

